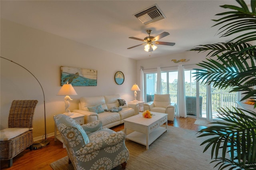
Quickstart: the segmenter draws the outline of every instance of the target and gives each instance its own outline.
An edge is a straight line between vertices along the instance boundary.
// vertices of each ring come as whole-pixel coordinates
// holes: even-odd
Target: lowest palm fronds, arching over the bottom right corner
[[[200,133],[198,137],[213,136],[202,142],[201,145],[206,144],[204,152],[212,146],[212,158],[219,160],[221,158],[222,163],[231,162],[233,165],[235,158],[226,158],[226,153],[231,152],[231,155],[234,155],[234,152],[237,152],[236,164],[238,166],[245,169],[256,168],[256,113],[237,108],[234,108],[234,111],[221,108],[218,113],[219,118],[224,122],[213,122],[219,125],[198,131]],[[220,149],[222,149],[221,157],[218,156]]]

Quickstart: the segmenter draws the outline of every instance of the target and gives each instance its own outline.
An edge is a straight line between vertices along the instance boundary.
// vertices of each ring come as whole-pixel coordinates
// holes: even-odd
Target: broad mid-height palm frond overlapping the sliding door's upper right
[[[239,59],[223,59],[219,61],[207,59],[209,62],[202,61],[197,65],[204,69],[195,69],[196,80],[202,80],[206,84],[213,83],[214,87],[244,87],[253,85],[256,82],[256,67],[247,67],[248,63]],[[220,62],[221,61],[221,62]]]

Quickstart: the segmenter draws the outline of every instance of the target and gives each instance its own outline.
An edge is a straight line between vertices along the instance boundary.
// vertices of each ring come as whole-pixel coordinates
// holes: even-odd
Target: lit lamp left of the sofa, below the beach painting
[[[71,113],[70,110],[68,109],[70,107],[70,103],[68,100],[73,100],[69,97],[69,95],[77,95],[75,89],[73,88],[73,86],[71,84],[64,84],[60,91],[57,94],[58,96],[66,96],[64,97],[64,101],[65,101],[65,113],[63,113],[64,115],[67,116],[72,116],[74,115],[74,113]]]

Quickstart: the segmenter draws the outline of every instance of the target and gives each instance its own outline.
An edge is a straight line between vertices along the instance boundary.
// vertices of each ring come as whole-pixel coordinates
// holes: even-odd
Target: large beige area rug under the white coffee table
[[[149,146],[126,140],[126,147],[130,152],[126,170],[211,170],[215,163],[211,163],[210,150],[203,153],[204,146],[200,144],[207,137],[196,137],[197,131],[168,126],[168,131],[162,134]],[[68,164],[68,157],[64,157],[50,164],[54,170],[73,170]],[[113,170],[121,170],[117,166]],[[216,169],[216,168],[215,168]]]

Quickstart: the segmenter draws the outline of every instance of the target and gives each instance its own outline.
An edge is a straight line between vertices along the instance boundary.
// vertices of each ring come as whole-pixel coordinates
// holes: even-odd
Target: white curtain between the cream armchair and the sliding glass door
[[[185,77],[184,77],[184,67],[183,65],[178,65],[178,99],[176,116],[187,117],[186,110],[186,96],[185,96]]]

